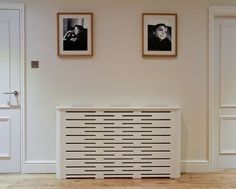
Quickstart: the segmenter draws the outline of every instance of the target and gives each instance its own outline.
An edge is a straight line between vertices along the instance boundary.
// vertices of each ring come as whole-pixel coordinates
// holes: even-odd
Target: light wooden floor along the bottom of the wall
[[[68,179],[54,174],[0,174],[0,189],[236,189],[236,171],[182,174],[179,179]]]

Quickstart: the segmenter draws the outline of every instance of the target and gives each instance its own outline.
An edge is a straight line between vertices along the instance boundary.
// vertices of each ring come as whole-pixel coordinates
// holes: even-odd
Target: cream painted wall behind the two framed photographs
[[[7,2],[24,3],[26,10],[25,160],[55,161],[58,105],[167,104],[182,107],[184,165],[208,166],[208,7],[235,0]],[[93,57],[57,57],[57,12],[93,12]],[[176,58],[142,57],[144,12],[177,13]],[[31,60],[39,69],[30,68]]]

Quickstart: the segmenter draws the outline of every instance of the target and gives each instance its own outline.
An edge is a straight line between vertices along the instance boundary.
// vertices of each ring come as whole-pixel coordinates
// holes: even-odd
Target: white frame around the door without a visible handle
[[[213,127],[213,70],[214,70],[214,23],[215,18],[218,16],[236,16],[236,7],[210,7],[209,8],[209,161],[210,170],[214,171],[213,167],[213,137],[214,137],[214,127]]]

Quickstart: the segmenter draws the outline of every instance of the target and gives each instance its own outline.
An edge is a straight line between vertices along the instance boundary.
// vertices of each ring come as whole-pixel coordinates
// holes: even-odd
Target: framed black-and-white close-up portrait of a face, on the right
[[[177,14],[143,13],[143,56],[177,56]]]

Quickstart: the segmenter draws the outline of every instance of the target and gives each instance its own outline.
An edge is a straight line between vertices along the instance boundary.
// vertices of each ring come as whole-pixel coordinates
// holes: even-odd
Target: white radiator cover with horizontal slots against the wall
[[[180,176],[179,107],[58,107],[57,178]]]

